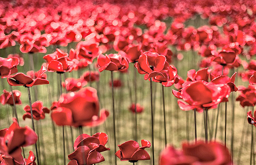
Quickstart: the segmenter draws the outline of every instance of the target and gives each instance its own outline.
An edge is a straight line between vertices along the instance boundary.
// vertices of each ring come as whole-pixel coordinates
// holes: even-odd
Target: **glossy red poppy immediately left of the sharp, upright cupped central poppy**
[[[98,56],[98,65],[100,68],[99,72],[104,70],[107,71],[126,71],[129,67],[129,62],[126,57],[122,56],[120,53],[115,54],[100,54]]]

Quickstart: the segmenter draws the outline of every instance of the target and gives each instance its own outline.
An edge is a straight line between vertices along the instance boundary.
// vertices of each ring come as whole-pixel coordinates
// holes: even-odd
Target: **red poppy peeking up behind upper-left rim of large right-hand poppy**
[[[194,82],[197,80],[203,80],[205,82],[208,82],[209,75],[210,75],[211,69],[204,68],[199,69],[196,71],[195,69],[191,69],[187,71],[187,82]]]

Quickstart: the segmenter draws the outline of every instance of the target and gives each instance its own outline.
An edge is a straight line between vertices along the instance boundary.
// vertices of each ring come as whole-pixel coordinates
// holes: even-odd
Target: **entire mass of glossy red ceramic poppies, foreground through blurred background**
[[[45,119],[50,113],[54,123],[63,126],[63,130],[64,126],[70,126],[71,130],[72,127],[97,127],[108,119],[109,111],[100,111],[97,90],[91,83],[100,81],[104,71],[111,71],[111,76],[113,72],[128,73],[130,63],[144,75],[144,80],[161,83],[163,87],[174,85],[173,95],[179,99],[177,102],[183,111],[215,109],[221,102],[228,102],[230,93],[236,91],[240,92],[236,100],[242,107],[256,105],[256,61],[252,60],[256,54],[255,1],[121,0],[113,3],[112,0],[76,0],[74,3],[72,0],[15,0],[1,3],[0,7],[0,49],[14,48],[13,54],[1,54],[1,78],[6,78],[11,86],[24,86],[29,91],[34,85],[49,84],[47,71],[56,72],[60,76],[60,85],[67,91],[62,93],[60,89],[59,99],[50,109],[37,98],[31,103],[28,92],[30,105],[24,107],[24,120],[31,118],[33,123],[33,120]],[[200,19],[197,15],[207,19],[208,25],[186,26],[188,20]],[[172,18],[171,22],[169,18]],[[71,48],[73,43],[76,45]],[[37,72],[18,73],[18,66],[28,63],[15,52],[15,45],[19,45],[21,53],[31,57],[43,53],[46,63]],[[49,52],[48,48],[52,47],[54,52]],[[200,57],[200,69],[187,71],[186,79],[180,73],[178,75],[176,69],[176,63],[184,57],[178,51],[197,52]],[[33,62],[33,58],[31,60]],[[234,70],[240,66],[243,69],[236,73]],[[85,68],[89,71],[81,74],[79,71]],[[68,77],[61,81],[63,74],[73,71],[78,71],[78,78]],[[249,81],[250,85],[235,85],[236,75]],[[124,86],[122,80],[111,78],[110,87]],[[15,109],[15,105],[22,104],[20,97],[21,92],[11,87],[10,92],[3,90],[0,102]],[[136,116],[144,107],[136,100],[128,109]],[[113,120],[115,128],[115,118]],[[247,120],[256,126],[256,111],[247,112]],[[152,114],[152,134],[153,121]],[[150,160],[145,148],[151,147],[154,151],[153,138],[152,135],[152,147],[147,140],[141,140],[141,147],[137,141],[126,141],[118,145],[120,150],[115,156],[131,163]],[[19,127],[18,119],[14,119],[8,129],[0,130],[0,164],[35,165],[33,152],[28,159],[23,158],[21,147],[36,144],[36,141],[37,134],[27,126]],[[69,165],[104,161],[100,152],[110,150],[105,147],[107,142],[108,135],[102,132],[93,136],[80,134],[74,141],[74,152],[68,156]],[[198,150],[200,154],[196,152]],[[152,154],[154,158],[154,152]],[[167,146],[160,155],[160,165],[206,163],[232,164],[226,146],[207,141],[184,143],[182,150]]]

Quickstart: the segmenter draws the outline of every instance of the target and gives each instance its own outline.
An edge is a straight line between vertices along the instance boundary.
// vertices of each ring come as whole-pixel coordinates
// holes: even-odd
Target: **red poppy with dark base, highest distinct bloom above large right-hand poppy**
[[[212,61],[221,65],[233,65],[239,58],[234,51],[220,50],[211,51],[213,54]]]

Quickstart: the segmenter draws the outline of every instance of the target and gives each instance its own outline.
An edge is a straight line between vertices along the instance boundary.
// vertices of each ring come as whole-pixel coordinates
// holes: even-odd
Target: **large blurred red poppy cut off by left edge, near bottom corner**
[[[33,145],[36,141],[37,134],[28,126],[20,127],[15,118],[9,128],[0,130],[0,152],[20,164],[23,164],[20,147]]]

